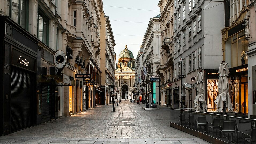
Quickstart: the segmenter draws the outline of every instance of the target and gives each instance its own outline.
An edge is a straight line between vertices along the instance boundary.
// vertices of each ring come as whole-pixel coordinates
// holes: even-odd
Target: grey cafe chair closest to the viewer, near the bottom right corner
[[[248,131],[249,129],[251,129],[251,123],[237,123],[236,143],[238,143],[240,139],[242,139],[244,143],[244,138],[249,138],[248,135],[251,135],[251,131]]]

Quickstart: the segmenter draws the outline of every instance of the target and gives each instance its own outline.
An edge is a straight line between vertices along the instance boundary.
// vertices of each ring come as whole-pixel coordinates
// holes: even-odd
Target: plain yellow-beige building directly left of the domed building
[[[110,25],[110,20],[104,13],[101,14],[101,30],[103,33],[101,38],[101,52],[100,52],[100,70],[101,70],[101,85],[103,87],[105,104],[110,104],[110,85],[114,85],[114,75],[115,75],[115,39]]]

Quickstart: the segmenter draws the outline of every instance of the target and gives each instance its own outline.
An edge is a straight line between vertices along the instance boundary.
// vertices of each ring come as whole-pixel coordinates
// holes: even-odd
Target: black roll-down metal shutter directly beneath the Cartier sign
[[[12,67],[11,132],[32,126],[32,73]]]

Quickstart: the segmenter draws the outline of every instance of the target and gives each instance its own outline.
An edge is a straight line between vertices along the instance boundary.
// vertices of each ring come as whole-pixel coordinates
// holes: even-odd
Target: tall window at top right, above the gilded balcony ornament
[[[231,0],[230,1],[230,17],[234,17],[235,20],[239,16],[239,12],[242,10],[243,5],[248,6],[249,0]]]

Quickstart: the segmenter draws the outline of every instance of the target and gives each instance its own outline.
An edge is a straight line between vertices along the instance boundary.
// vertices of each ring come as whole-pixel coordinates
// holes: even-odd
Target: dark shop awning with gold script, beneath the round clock
[[[37,75],[37,82],[51,83],[55,86],[75,86],[75,81],[63,75]]]

